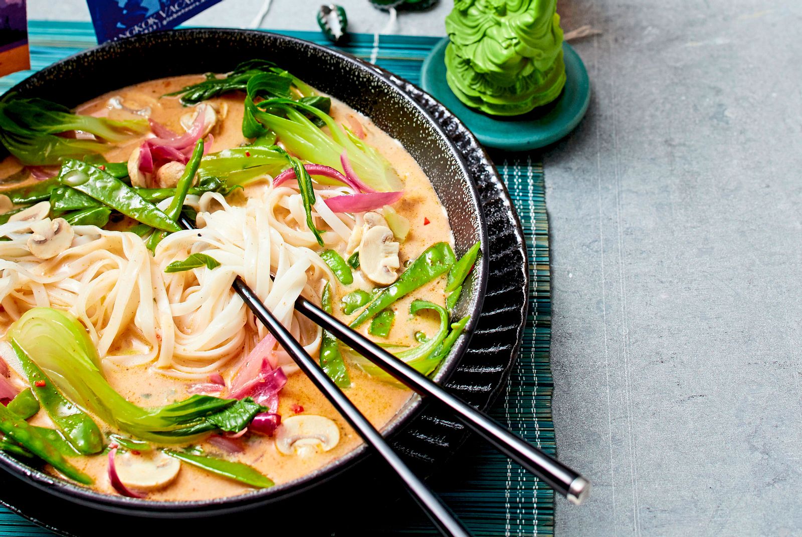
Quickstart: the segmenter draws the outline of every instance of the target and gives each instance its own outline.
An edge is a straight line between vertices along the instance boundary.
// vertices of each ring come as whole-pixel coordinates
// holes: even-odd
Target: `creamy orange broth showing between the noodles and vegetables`
[[[107,105],[109,98],[119,95],[128,107],[151,107],[152,119],[163,123],[173,131],[181,132],[183,128],[180,127],[180,116],[186,113],[188,109],[182,107],[177,98],[160,96],[189,84],[200,82],[201,79],[200,75],[191,75],[137,84],[123,90],[113,91],[85,103],[78,107],[78,111],[79,113],[90,115],[111,115],[116,119],[130,117],[128,112],[116,110]],[[217,103],[221,110],[226,111],[225,119],[218,123],[213,130],[214,141],[211,151],[221,151],[245,142],[241,132],[242,95],[226,95],[211,100],[213,103]],[[362,123],[367,133],[367,143],[376,147],[391,162],[404,181],[403,199],[394,205],[395,210],[399,214],[406,216],[411,222],[409,236],[401,244],[399,252],[402,270],[405,261],[415,259],[420,252],[423,252],[431,244],[441,240],[453,243],[448,218],[444,208],[439,204],[431,183],[411,155],[404,151],[401,144],[378,127],[375,127],[370,119],[358,114],[358,112],[353,111],[350,107],[335,99],[332,99],[331,115],[338,123],[347,125],[348,116],[353,116]],[[137,139],[119,147],[114,147],[104,156],[109,162],[127,160],[128,155],[140,142],[141,139]],[[0,176],[9,176],[20,168],[20,165],[13,157],[6,159],[0,164]],[[2,186],[2,183],[0,183],[0,190],[2,190]],[[19,184],[9,186],[18,187]],[[250,188],[263,187],[256,185]],[[247,194],[247,192],[248,190],[246,189],[245,193]],[[243,196],[237,196],[240,196],[241,200],[245,200]],[[424,218],[429,221],[429,224],[424,225]],[[370,289],[369,286],[361,283],[360,278],[355,278],[353,285],[341,286],[339,296],[334,297],[334,313],[344,321],[349,321],[352,317],[346,317],[342,314],[338,307],[339,299],[344,294],[356,289],[360,284],[364,289]],[[435,315],[425,311],[414,318],[409,315],[409,305],[415,298],[444,305],[444,277],[431,282],[429,285],[412,293],[411,296],[395,303],[393,306],[396,314],[395,323],[386,341],[399,345],[414,346],[417,345],[414,337],[416,331],[420,330],[429,335],[435,333],[439,326],[439,320]],[[0,327],[0,329],[5,332],[7,327]],[[367,324],[363,331],[367,333]],[[124,341],[121,341],[120,345],[124,346]],[[352,381],[352,386],[346,389],[346,394],[375,426],[384,426],[411,397],[411,392],[399,385],[372,378],[355,365],[348,363],[347,360],[346,363]],[[232,369],[233,366],[232,364]],[[126,369],[115,365],[105,365],[105,368],[104,373],[111,386],[114,386],[115,390],[137,405],[161,406],[189,396],[187,387],[191,382],[168,378],[160,373],[158,369],[150,366],[143,365]],[[225,378],[229,379],[233,371],[223,370],[221,373]],[[302,410],[298,409],[297,406],[302,406]],[[201,442],[201,447],[208,454],[245,462],[272,478],[274,482],[282,483],[299,478],[342,457],[361,443],[358,435],[346,424],[338,412],[334,410],[334,407],[318,392],[303,373],[291,374],[286,386],[280,393],[279,414],[286,418],[295,414],[294,410],[297,410],[298,413],[318,414],[337,422],[341,431],[338,445],[326,453],[316,454],[307,458],[281,454],[276,450],[272,438],[257,434],[249,434],[243,437],[245,451],[241,454],[221,453],[215,446],[206,442]],[[52,423],[44,411],[40,411],[39,414],[31,419],[31,422],[36,425],[52,427]],[[102,426],[101,428],[111,432],[108,426]],[[109,494],[116,494],[108,482],[106,456],[75,457],[71,458],[71,462],[95,480],[95,489]],[[148,499],[211,499],[237,495],[251,490],[253,489],[228,478],[217,477],[204,470],[183,464],[176,481],[163,490],[149,493]]]

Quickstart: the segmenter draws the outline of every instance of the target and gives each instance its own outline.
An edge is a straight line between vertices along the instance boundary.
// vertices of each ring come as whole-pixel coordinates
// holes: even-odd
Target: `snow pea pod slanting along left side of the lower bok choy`
[[[67,400],[13,339],[11,348],[22,363],[22,369],[25,370],[30,382],[30,389],[33,390],[38,402],[75,449],[85,455],[103,450],[103,436],[92,418]]]

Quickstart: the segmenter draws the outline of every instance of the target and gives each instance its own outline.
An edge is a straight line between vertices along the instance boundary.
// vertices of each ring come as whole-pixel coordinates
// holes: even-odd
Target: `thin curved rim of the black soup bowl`
[[[51,76],[50,73],[57,70],[59,67],[63,67],[63,64],[74,63],[75,67],[83,69],[83,67],[80,67],[80,64],[84,60],[89,59],[94,55],[98,55],[104,50],[121,48],[124,51],[128,50],[130,53],[130,50],[136,50],[137,46],[140,44],[147,45],[147,42],[151,41],[152,39],[170,40],[175,39],[176,36],[180,37],[192,34],[243,34],[251,35],[253,38],[278,39],[294,43],[295,46],[306,47],[315,50],[318,54],[334,56],[341,62],[352,64],[357,70],[369,71],[372,77],[379,79],[382,83],[386,84],[387,87],[390,88],[391,92],[394,92],[401,99],[406,101],[408,106],[414,108],[419,115],[423,116],[423,118],[430,123],[431,127],[434,128],[435,133],[444,140],[448,147],[451,148],[452,155],[456,159],[456,163],[460,168],[461,175],[467,179],[468,192],[471,197],[472,204],[476,208],[476,214],[479,216],[477,227],[480,240],[482,241],[483,245],[487,244],[487,224],[484,218],[484,212],[481,208],[476,180],[469,171],[468,164],[466,163],[464,156],[448,137],[448,133],[446,133],[444,127],[442,127],[435,120],[429,111],[423,108],[410,95],[407,95],[407,93],[402,91],[399,86],[393,82],[391,76],[394,79],[403,81],[404,83],[408,83],[407,80],[402,79],[397,75],[391,75],[388,73],[388,71],[385,71],[380,67],[376,67],[375,65],[368,63],[363,59],[358,59],[357,57],[343,52],[342,50],[318,45],[315,42],[310,42],[291,35],[277,34],[263,30],[243,30],[237,28],[181,28],[164,30],[153,32],[151,34],[140,34],[130,38],[119,39],[118,41],[105,42],[98,46],[91,47],[90,49],[82,50],[75,55],[68,56],[67,58],[61,59],[58,62],[55,62],[47,67],[44,67],[42,70],[35,72],[26,79],[23,79],[21,82],[15,84],[14,87],[11,87],[8,91],[6,91],[6,93],[20,92],[24,95],[26,87],[37,83],[39,79],[48,79]],[[96,95],[90,96],[89,99],[92,99],[95,96]],[[333,96],[336,97],[336,95]],[[487,251],[486,248],[483,248],[483,250],[485,252]],[[439,369],[433,378],[433,380],[439,384],[446,382],[454,372],[460,357],[462,357],[462,355],[468,349],[473,331],[476,329],[476,323],[479,321],[479,313],[481,312],[482,305],[484,303],[484,294],[487,287],[489,271],[488,256],[480,256],[479,261],[480,262],[476,267],[478,270],[474,270],[474,274],[476,274],[476,293],[473,293],[472,301],[466,309],[471,313],[471,317],[468,321],[468,325],[466,325],[464,329],[464,334],[457,341],[455,348],[452,349],[451,354],[439,366]],[[398,433],[399,430],[402,430],[404,426],[409,425],[409,423],[415,418],[415,415],[419,414],[419,412],[423,410],[423,406],[423,399],[417,394],[411,394],[411,397],[402,406],[402,408],[399,409],[393,418],[391,418],[391,420],[381,428],[383,436],[385,438],[392,436],[393,434]],[[126,515],[136,512],[138,515],[146,515],[152,518],[180,517],[182,515],[185,517],[192,517],[198,515],[222,515],[233,511],[241,511],[245,508],[259,507],[267,503],[276,503],[278,501],[290,498],[291,496],[302,494],[303,492],[308,491],[311,488],[330,480],[331,478],[334,478],[338,474],[342,474],[343,471],[349,469],[351,466],[363,461],[369,453],[370,451],[367,444],[363,442],[354,448],[354,450],[351,450],[340,458],[334,459],[325,466],[321,466],[288,482],[277,484],[274,487],[256,489],[245,492],[241,495],[198,500],[160,501],[136,499],[95,491],[90,487],[84,487],[67,481],[66,479],[47,474],[43,470],[37,470],[31,466],[27,466],[3,451],[0,451],[0,468],[8,471],[10,474],[14,475],[14,477],[33,484],[35,487],[38,487],[43,491],[47,491],[52,495],[59,496],[60,498],[67,499],[71,502],[80,503],[87,507]],[[198,512],[197,510],[199,508],[203,508],[204,512]]]

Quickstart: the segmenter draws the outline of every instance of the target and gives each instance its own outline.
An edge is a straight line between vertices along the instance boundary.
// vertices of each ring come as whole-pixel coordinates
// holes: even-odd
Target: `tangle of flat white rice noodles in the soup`
[[[342,249],[361,215],[331,212],[324,200],[352,191],[315,186],[314,223],[326,248]],[[155,256],[134,233],[74,226],[71,248],[39,260],[26,247],[26,224],[0,225],[0,236],[10,238],[0,241],[0,322],[37,306],[66,309],[87,326],[103,361],[153,362],[173,377],[203,378],[266,335],[231,289],[241,276],[306,350],[318,353],[322,331],[295,313],[294,301],[303,294],[319,302],[323,282],[335,287],[337,280],[313,249],[319,246],[298,184],[259,184],[247,196],[244,206],[212,192],[188,198],[199,228],[168,235]],[[196,252],[220,266],[164,273]],[[297,370],[286,353],[278,358],[286,373]]]

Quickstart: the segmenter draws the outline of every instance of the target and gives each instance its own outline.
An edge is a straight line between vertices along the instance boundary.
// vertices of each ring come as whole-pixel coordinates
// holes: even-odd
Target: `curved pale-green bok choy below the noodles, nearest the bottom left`
[[[69,313],[34,308],[6,333],[76,405],[136,438],[161,444],[192,442],[213,430],[240,431],[264,407],[193,395],[168,406],[128,402],[103,378],[100,360],[83,325]]]

